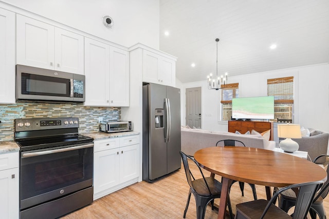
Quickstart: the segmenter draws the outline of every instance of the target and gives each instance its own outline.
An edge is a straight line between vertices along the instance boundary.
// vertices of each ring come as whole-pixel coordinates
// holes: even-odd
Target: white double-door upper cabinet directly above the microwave
[[[16,62],[84,74],[83,36],[17,14]]]

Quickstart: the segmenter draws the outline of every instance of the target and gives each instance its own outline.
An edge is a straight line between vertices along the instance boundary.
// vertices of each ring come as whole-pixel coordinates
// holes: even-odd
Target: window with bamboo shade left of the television
[[[221,88],[222,121],[228,121],[232,118],[232,98],[239,97],[239,83],[222,85]]]

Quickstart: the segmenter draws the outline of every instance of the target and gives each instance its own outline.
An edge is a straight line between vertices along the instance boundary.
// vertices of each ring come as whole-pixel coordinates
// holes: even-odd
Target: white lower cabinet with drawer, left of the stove
[[[19,152],[0,154],[1,218],[19,218]]]

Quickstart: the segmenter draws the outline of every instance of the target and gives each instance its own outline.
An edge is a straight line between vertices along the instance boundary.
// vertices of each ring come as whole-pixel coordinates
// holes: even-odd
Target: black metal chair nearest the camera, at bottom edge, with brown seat
[[[291,216],[273,204],[278,195],[288,189],[299,189],[297,195],[297,203],[295,205],[293,219],[304,219],[308,213],[312,200],[318,188],[323,184],[323,181],[308,182],[294,184],[278,190],[269,201],[255,200],[251,202],[241,203],[236,205],[235,219],[245,218],[289,218]]]

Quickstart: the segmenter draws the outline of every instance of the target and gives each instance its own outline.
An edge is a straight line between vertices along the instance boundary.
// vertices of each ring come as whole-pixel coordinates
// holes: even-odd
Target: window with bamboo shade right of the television
[[[276,122],[293,122],[294,77],[267,79],[267,95],[274,96]]]

